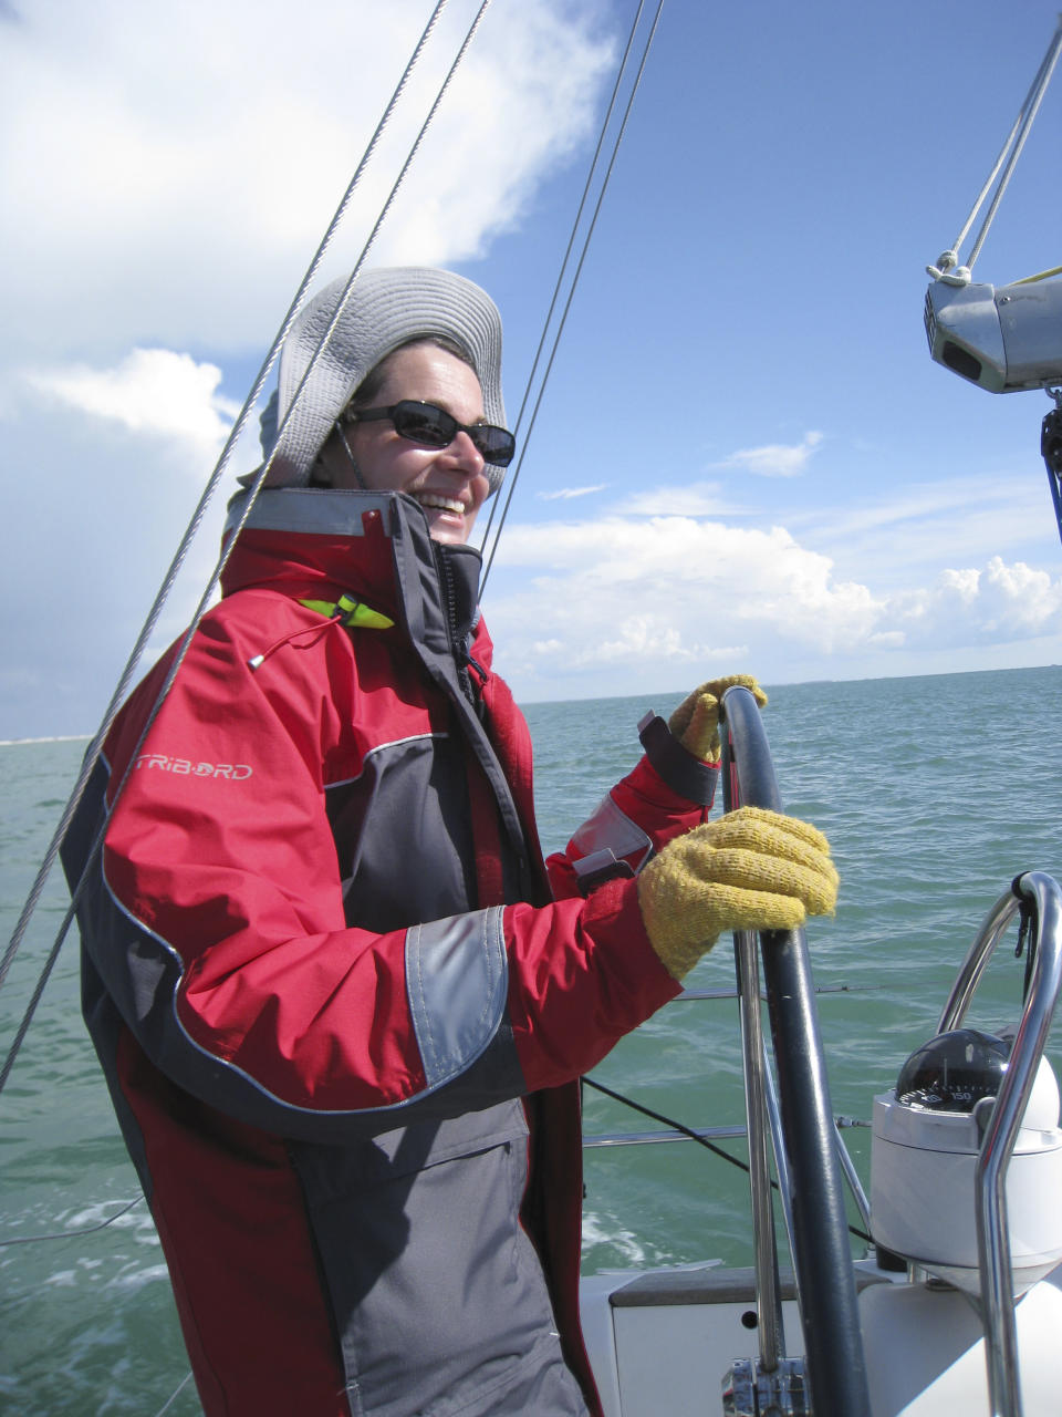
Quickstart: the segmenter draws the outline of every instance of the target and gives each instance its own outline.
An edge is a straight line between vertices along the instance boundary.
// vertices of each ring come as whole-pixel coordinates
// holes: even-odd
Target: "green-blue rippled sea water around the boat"
[[[641,714],[668,713],[678,697],[527,707],[547,852],[630,768]],[[935,1032],[957,965],[1011,879],[1029,869],[1062,879],[1062,669],[780,686],[765,724],[786,811],[826,830],[841,873],[837,917],[813,922],[809,944],[833,1110],[862,1124],[872,1095]],[[0,747],[0,942],[82,751]],[[57,871],[0,993],[0,1056],[65,907]],[[1024,961],[1014,942],[1011,932],[995,951],[967,1022],[993,1030],[1015,1016]],[[71,938],[0,1094],[0,1411],[193,1417],[166,1267],[81,1023],[76,973]],[[732,988],[726,941],[688,983]],[[593,1076],[685,1125],[742,1125],[735,1009],[732,999],[678,1000]],[[1056,1068],[1059,1040],[1056,1029]],[[588,1134],[658,1127],[586,1094]],[[869,1131],[844,1136],[868,1185]],[[724,1146],[743,1161],[742,1141]],[[746,1216],[743,1172],[692,1142],[586,1153],[585,1272],[748,1264]],[[850,1217],[858,1227],[854,1207]]]

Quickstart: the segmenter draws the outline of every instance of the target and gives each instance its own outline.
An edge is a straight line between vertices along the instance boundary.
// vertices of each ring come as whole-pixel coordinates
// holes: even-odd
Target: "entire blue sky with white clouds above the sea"
[[[0,0],[0,740],[99,721],[432,9]],[[317,285],[358,259],[476,9],[450,0]],[[372,247],[494,296],[511,422],[636,9],[494,0]],[[1055,23],[1039,0],[664,4],[517,429],[483,606],[518,700],[1062,660],[1051,404],[966,384],[922,327],[925,266]],[[1059,264],[1059,123],[1062,78],[977,279]]]

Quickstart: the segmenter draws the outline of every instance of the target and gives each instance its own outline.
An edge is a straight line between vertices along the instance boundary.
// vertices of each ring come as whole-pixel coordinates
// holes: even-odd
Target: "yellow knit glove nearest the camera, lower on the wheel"
[[[794,930],[831,915],[837,870],[821,832],[743,806],[670,842],[639,876],[649,941],[681,979],[724,930]]]

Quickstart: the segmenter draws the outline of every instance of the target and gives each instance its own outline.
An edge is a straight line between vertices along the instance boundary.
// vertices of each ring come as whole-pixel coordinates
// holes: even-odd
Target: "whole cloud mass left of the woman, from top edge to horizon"
[[[316,285],[360,254],[477,9],[447,7]],[[0,419],[20,536],[0,567],[0,735],[98,720],[195,507],[188,475],[205,480],[236,412],[225,390],[249,385],[430,13],[93,0],[4,26]],[[460,262],[521,222],[585,143],[610,20],[605,0],[489,11],[371,264]],[[234,472],[255,456],[248,436]],[[219,523],[211,507],[159,638],[187,621]],[[41,587],[76,598],[44,636]]]

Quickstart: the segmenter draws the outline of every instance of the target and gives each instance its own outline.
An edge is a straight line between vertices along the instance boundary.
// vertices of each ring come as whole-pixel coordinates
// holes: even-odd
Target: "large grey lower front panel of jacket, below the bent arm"
[[[351,1411],[463,1413],[518,1384],[524,1360],[555,1332],[541,1265],[518,1220],[527,1180],[521,1105],[406,1127],[362,1146],[299,1146],[292,1158]]]

